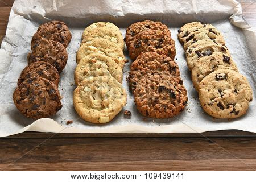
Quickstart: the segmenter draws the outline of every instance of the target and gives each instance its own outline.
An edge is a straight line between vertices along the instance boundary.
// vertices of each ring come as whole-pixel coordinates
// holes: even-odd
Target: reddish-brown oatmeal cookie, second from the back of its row
[[[176,55],[174,40],[160,30],[148,30],[137,34],[128,49],[132,60],[143,52],[156,52],[171,59],[174,59]]]

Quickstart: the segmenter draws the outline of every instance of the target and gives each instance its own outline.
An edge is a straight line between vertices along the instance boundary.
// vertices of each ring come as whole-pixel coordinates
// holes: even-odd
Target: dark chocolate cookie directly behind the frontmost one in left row
[[[38,61],[31,63],[23,69],[23,71],[20,73],[18,86],[28,78],[35,76],[46,78],[47,80],[52,81],[56,86],[58,86],[60,82],[60,75],[55,67],[49,63]]]

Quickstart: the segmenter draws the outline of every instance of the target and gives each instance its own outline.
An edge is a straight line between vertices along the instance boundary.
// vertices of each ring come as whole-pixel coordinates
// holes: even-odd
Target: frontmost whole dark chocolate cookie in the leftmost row
[[[23,81],[15,89],[13,100],[20,113],[33,119],[49,117],[62,107],[57,86],[42,77]]]

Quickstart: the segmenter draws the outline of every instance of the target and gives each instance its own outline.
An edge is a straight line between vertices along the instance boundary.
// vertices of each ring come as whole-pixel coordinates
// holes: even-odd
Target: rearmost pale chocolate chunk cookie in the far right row
[[[203,22],[191,22],[191,23],[187,23],[184,24],[184,26],[182,26],[179,30],[178,30],[178,38],[180,39],[181,37],[183,37],[185,34],[189,34],[190,32],[192,32],[193,28],[205,28],[205,29],[209,29],[209,28],[215,28],[214,26],[212,26],[212,24],[209,23],[203,23]]]

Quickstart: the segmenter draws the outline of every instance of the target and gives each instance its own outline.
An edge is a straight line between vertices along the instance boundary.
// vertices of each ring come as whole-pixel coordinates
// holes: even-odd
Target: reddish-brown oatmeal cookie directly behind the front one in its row
[[[179,66],[166,55],[159,55],[156,52],[142,53],[131,64],[131,71],[129,72],[130,89],[133,92],[136,88],[137,82],[148,75],[159,75],[163,73],[179,77]]]

